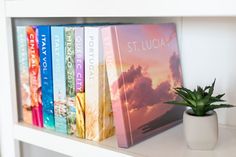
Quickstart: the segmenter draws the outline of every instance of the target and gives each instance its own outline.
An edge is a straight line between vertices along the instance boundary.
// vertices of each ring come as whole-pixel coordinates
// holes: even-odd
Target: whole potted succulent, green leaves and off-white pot
[[[213,149],[218,141],[218,119],[214,110],[233,107],[230,104],[221,104],[225,102],[221,99],[225,94],[213,96],[214,86],[215,80],[211,86],[205,88],[200,86],[194,90],[175,88],[176,94],[182,100],[166,102],[190,107],[184,112],[183,123],[186,142],[191,149]]]

